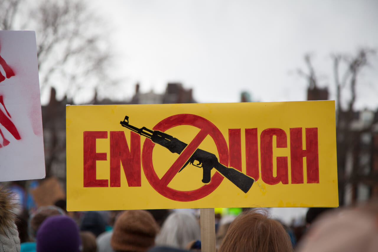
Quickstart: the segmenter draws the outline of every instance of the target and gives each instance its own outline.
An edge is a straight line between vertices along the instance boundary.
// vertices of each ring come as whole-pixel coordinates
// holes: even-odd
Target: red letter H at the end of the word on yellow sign
[[[302,128],[290,129],[291,183],[303,184],[303,157],[306,157],[307,183],[319,183],[318,128],[306,128],[306,149]]]

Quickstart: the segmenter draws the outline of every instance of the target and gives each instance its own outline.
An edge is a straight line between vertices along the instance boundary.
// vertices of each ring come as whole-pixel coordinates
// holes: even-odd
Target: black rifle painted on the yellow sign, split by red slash
[[[139,135],[143,135],[147,138],[150,138],[152,142],[157,143],[167,149],[169,149],[172,153],[181,154],[181,152],[187,146],[186,143],[181,142],[177,138],[172,137],[161,131],[152,131],[147,129],[146,127],[143,128],[136,128],[129,124],[129,117],[125,116],[125,119],[121,121],[121,125],[131,129],[132,131],[138,133]],[[198,164],[195,165],[194,161],[197,161]],[[197,149],[189,160],[186,161],[184,166],[180,169],[182,171],[185,166],[188,164],[203,168],[203,183],[209,183],[211,180],[211,169],[214,168],[215,170],[219,171],[223,176],[225,176],[228,180],[234,183],[237,187],[239,187],[243,192],[247,193],[249,188],[251,188],[254,179],[248,177],[244,173],[241,173],[234,168],[228,168],[221,163],[218,162],[217,156],[214,154],[204,151],[202,149]],[[178,171],[178,172],[180,172]]]

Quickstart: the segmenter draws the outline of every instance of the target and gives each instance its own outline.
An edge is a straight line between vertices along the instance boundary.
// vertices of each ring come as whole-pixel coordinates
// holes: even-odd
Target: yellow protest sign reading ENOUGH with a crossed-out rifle
[[[69,211],[338,206],[334,101],[66,112]]]

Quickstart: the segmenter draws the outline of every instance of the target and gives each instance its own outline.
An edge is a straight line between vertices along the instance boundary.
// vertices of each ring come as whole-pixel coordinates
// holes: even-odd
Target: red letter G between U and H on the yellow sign
[[[269,185],[289,184],[287,157],[277,157],[277,176],[273,177],[273,135],[276,136],[277,148],[287,148],[286,132],[283,129],[265,129],[260,135],[261,178]]]

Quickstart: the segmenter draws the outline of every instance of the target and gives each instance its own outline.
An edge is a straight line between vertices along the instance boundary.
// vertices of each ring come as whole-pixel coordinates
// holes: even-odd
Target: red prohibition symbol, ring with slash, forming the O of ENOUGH
[[[155,143],[153,143],[150,139],[146,139],[144,141],[142,151],[143,171],[150,185],[164,197],[175,201],[195,201],[212,193],[220,185],[224,177],[216,172],[211,177],[211,182],[209,184],[203,185],[202,187],[192,191],[175,190],[168,187],[169,182],[192,156],[194,151],[198,148],[207,135],[213,138],[215,145],[217,146],[219,162],[225,166],[228,166],[229,160],[228,146],[220,130],[213,123],[211,123],[211,121],[198,115],[173,115],[160,121],[155,127],[153,127],[153,130],[164,132],[170,128],[180,125],[197,127],[200,129],[200,132],[198,132],[192,142],[187,145],[184,151],[181,152],[178,159],[172,164],[161,179],[156,174],[152,163],[152,151]]]

